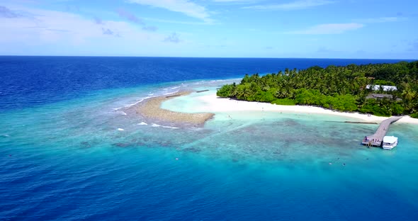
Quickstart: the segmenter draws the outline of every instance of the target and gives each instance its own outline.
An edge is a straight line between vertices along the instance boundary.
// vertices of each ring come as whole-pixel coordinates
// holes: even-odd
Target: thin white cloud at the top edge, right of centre
[[[322,6],[327,4],[333,4],[335,1],[328,0],[300,0],[300,1],[291,1],[284,4],[267,4],[267,5],[258,5],[258,6],[247,6],[244,8],[256,9],[256,10],[299,10],[305,8],[311,8],[315,6]]]

